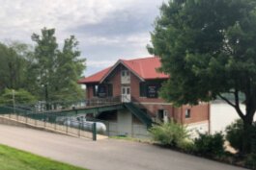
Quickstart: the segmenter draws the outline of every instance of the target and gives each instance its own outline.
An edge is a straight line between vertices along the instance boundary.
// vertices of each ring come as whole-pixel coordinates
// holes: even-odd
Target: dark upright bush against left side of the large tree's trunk
[[[243,123],[241,119],[236,120],[226,128],[226,139],[238,151],[242,151],[242,133]]]

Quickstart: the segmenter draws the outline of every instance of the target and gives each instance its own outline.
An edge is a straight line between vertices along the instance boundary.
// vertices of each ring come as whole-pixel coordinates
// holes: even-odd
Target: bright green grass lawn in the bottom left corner
[[[85,170],[0,145],[0,170]]]

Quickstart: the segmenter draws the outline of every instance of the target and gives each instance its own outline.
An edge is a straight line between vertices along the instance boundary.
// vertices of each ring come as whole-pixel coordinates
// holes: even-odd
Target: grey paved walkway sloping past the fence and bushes
[[[242,170],[149,144],[92,141],[0,125],[0,143],[92,170]]]

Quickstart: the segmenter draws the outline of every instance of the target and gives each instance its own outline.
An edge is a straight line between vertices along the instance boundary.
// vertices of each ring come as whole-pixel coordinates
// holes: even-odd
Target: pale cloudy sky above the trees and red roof
[[[0,0],[0,41],[33,44],[31,35],[55,28],[61,45],[71,35],[86,58],[83,76],[119,59],[151,56],[146,49],[163,0]]]

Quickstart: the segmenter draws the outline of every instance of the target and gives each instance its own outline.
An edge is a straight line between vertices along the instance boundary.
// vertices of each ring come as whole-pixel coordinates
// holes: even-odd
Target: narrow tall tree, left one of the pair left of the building
[[[37,43],[35,48],[36,68],[38,84],[41,86],[40,97],[46,103],[53,100],[54,73],[56,71],[56,59],[58,44],[54,36],[54,29],[43,28],[42,36],[32,35],[32,40]]]

